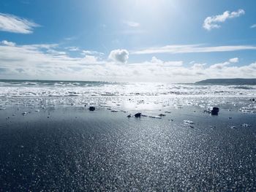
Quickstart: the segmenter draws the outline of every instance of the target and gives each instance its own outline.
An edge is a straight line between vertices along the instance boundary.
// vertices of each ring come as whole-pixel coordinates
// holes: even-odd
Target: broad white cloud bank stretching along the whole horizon
[[[67,50],[65,47],[62,49]],[[234,66],[229,60],[212,65],[197,63],[185,65],[183,61],[162,61],[153,57],[151,61],[121,65],[118,62],[99,59],[95,55],[71,57],[68,53],[57,54],[58,52],[61,52],[61,47],[55,44],[15,46],[1,44],[1,78],[195,82],[207,78],[256,77],[256,63]],[[114,53],[116,52],[121,53],[120,50]]]

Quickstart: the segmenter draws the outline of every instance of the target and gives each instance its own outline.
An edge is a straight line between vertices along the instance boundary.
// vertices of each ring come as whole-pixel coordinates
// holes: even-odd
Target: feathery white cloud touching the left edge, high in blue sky
[[[15,15],[0,13],[0,31],[7,31],[18,34],[31,34],[33,29],[38,27],[37,23],[18,18]]]

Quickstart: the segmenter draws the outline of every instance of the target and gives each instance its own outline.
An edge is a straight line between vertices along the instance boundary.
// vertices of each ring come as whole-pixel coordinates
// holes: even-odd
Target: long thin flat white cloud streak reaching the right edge
[[[252,45],[225,45],[215,47],[204,47],[202,45],[167,45],[164,47],[150,47],[143,50],[132,51],[131,54],[153,54],[153,53],[211,53],[227,52],[237,50],[256,50]]]

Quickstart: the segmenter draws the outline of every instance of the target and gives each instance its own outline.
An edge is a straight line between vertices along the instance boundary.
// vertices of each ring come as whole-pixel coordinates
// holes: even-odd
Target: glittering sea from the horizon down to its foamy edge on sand
[[[256,112],[256,85],[196,85],[80,81],[1,80],[0,109],[9,106],[88,106],[149,111],[218,106]]]

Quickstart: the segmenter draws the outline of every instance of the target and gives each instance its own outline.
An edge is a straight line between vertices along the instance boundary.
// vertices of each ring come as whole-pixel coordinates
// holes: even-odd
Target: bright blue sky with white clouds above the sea
[[[0,79],[256,78],[255,0],[1,0]]]

